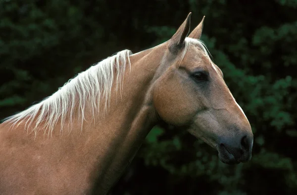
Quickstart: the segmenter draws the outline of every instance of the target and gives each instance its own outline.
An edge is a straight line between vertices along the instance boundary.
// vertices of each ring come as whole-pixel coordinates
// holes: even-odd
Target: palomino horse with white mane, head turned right
[[[187,131],[226,164],[251,159],[253,133],[221,69],[190,33],[120,51],[0,124],[1,195],[106,195],[159,123]]]

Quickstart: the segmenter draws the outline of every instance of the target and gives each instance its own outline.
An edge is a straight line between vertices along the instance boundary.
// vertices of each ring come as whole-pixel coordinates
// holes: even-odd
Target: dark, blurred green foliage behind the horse
[[[192,11],[254,132],[252,160],[167,125],[148,134],[109,195],[297,194],[297,0],[0,0],[0,119],[123,49],[175,33]]]

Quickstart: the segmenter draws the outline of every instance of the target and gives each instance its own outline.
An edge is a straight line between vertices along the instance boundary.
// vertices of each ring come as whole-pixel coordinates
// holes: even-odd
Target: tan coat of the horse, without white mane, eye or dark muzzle
[[[184,39],[187,22],[189,18],[171,41],[130,56],[122,97],[116,96],[113,85],[107,114],[94,122],[86,109],[82,130],[81,121],[73,120],[69,133],[61,136],[57,124],[52,137],[35,137],[22,123],[10,130],[8,123],[1,124],[0,195],[105,195],[161,120],[190,131],[218,151],[221,138],[227,147],[228,141],[237,143],[245,134],[251,150],[250,125],[219,68],[193,44],[180,62],[183,47],[177,42]],[[189,74],[197,68],[209,72],[203,90]],[[246,153],[240,161],[250,158]]]

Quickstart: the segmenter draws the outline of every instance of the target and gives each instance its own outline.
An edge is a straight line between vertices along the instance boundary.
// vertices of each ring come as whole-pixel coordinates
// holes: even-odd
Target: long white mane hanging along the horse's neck
[[[70,119],[69,124],[72,124],[75,109],[78,108],[78,116],[81,118],[83,127],[86,107],[91,110],[95,119],[99,112],[100,101],[105,99],[103,109],[107,112],[114,76],[116,76],[116,89],[118,89],[118,85],[121,89],[126,65],[128,64],[131,68],[129,58],[131,54],[130,50],[123,50],[99,62],[97,65],[91,66],[70,79],[40,103],[4,119],[4,123],[16,125],[25,121],[25,127],[29,128],[35,120],[36,124],[32,130],[35,134],[41,123],[45,123],[45,133],[48,130],[48,134],[51,134],[54,126],[60,120],[61,132],[67,117]]]

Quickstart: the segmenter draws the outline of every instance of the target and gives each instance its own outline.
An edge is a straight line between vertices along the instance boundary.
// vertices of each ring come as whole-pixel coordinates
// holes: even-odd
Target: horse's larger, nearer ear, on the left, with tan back
[[[185,44],[185,39],[190,32],[190,22],[191,22],[191,14],[188,14],[186,20],[182,23],[182,25],[178,28],[176,33],[169,40],[169,49],[173,48],[181,48]]]

